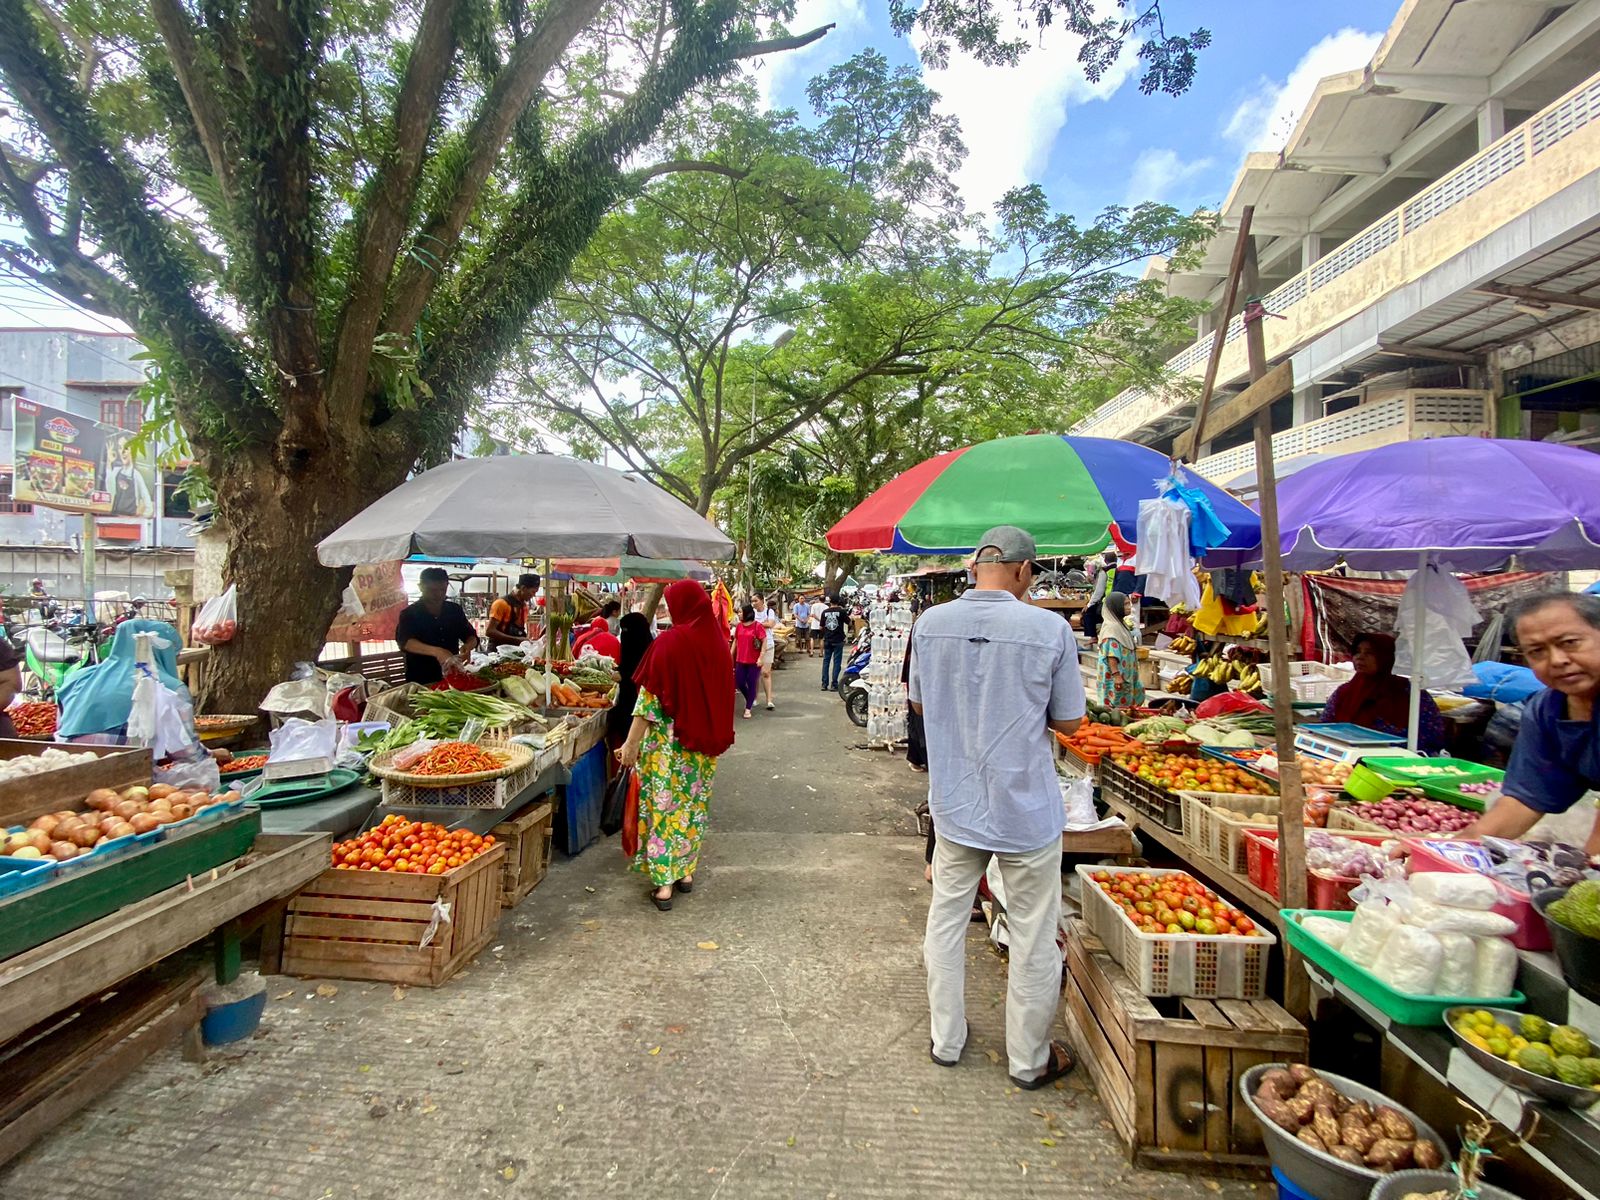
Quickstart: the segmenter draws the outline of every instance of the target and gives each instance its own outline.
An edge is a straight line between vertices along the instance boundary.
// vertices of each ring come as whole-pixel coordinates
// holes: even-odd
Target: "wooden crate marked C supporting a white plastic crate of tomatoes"
[[[1258,1062],[1304,1061],[1306,1029],[1270,1000],[1150,1000],[1082,920],[1067,922],[1067,1021],[1136,1166],[1261,1176],[1238,1096]]]

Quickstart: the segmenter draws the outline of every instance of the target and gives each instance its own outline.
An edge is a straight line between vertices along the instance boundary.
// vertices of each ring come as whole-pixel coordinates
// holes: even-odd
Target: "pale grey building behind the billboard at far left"
[[[136,395],[144,346],[131,334],[82,330],[0,330],[0,546],[78,546],[83,518],[11,498],[14,400],[34,400],[74,416],[138,430],[144,413]],[[102,547],[192,547],[184,533],[192,518],[181,494],[181,470],[160,475],[157,515],[96,518]]]

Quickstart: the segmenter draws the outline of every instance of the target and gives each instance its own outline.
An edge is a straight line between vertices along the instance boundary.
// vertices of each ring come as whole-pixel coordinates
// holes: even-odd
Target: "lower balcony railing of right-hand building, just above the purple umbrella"
[[[1493,400],[1488,392],[1413,389],[1342,413],[1307,421],[1272,435],[1272,458],[1349,454],[1426,437],[1486,437]],[[1213,483],[1227,483],[1256,466],[1256,446],[1224,450],[1195,462]]]

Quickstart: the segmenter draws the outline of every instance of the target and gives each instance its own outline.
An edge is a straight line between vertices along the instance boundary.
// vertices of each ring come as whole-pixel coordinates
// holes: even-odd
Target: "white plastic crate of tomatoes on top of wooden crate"
[[[1077,867],[1083,893],[1083,920],[1110,957],[1146,995],[1192,995],[1206,1000],[1262,1000],[1267,995],[1267,963],[1278,939],[1261,923],[1254,938],[1234,934],[1206,938],[1197,933],[1141,933],[1122,915],[1117,901],[1094,882],[1110,875],[1189,875],[1157,867]],[[1194,875],[1189,875],[1194,878]],[[1229,901],[1232,904],[1232,901]]]

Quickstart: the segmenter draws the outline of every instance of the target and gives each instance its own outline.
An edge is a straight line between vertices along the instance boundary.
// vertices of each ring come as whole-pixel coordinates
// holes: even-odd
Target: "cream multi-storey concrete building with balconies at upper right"
[[[1245,158],[1200,264],[1150,274],[1219,306],[1250,205],[1267,357],[1294,365],[1280,462],[1443,435],[1600,448],[1600,0],[1405,0],[1282,152]],[[1245,384],[1242,331],[1235,317],[1218,403]],[[1214,318],[1195,334],[1174,386],[1130,389],[1072,432],[1168,450]],[[1218,430],[1197,467],[1253,472],[1248,427]]]

